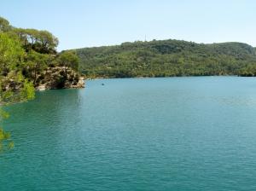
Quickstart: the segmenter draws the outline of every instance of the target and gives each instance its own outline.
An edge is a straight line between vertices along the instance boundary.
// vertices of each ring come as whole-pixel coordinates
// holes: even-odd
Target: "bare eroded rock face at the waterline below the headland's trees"
[[[84,78],[70,67],[49,67],[38,75],[37,90],[84,88]]]

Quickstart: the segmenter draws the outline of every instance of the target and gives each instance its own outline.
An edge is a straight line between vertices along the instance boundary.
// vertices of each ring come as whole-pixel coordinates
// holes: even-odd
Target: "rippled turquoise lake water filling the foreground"
[[[94,80],[9,112],[1,191],[256,190],[256,78]]]

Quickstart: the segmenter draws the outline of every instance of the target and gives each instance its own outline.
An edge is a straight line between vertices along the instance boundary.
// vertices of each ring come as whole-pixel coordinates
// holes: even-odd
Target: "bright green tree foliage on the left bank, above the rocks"
[[[47,31],[22,29],[9,25],[0,17],[0,106],[34,98],[34,88],[49,67],[78,68],[78,56],[73,52],[56,51],[58,39]],[[40,78],[39,78],[40,77]],[[8,117],[0,110],[0,120]],[[8,142],[9,133],[0,128],[0,151]]]

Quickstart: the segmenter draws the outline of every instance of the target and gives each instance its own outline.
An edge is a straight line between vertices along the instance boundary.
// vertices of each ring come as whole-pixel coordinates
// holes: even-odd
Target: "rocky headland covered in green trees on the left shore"
[[[25,92],[30,90],[33,95],[34,88],[82,86],[77,72],[79,57],[72,51],[58,53],[58,43],[48,31],[17,28],[0,17],[1,104],[26,100]]]

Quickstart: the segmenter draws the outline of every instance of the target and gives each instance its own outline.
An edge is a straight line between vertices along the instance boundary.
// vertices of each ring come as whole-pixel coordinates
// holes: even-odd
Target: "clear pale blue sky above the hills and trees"
[[[136,40],[236,41],[256,46],[253,0],[0,0],[13,26],[46,29],[58,50]]]

